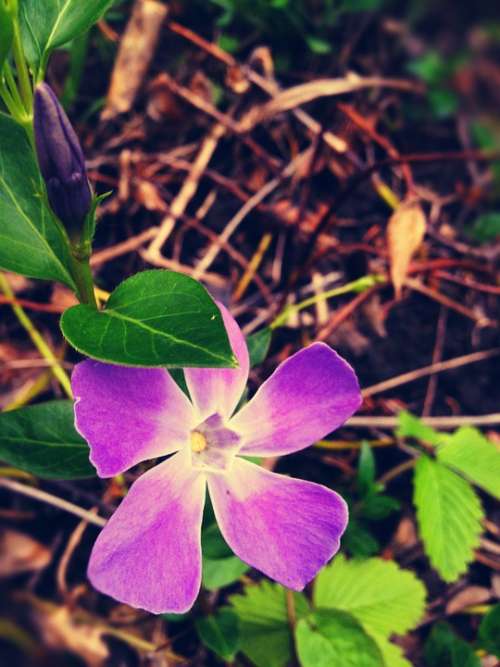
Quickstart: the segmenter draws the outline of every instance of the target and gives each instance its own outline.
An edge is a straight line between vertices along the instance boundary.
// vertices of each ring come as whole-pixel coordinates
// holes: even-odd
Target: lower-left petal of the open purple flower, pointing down
[[[88,576],[153,614],[191,608],[201,583],[205,478],[179,452],[142,475],[97,538]]]

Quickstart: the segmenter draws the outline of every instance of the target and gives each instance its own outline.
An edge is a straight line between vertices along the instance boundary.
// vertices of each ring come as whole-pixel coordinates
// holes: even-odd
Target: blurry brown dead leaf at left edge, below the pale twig
[[[51,557],[50,550],[29,535],[11,529],[0,534],[0,577],[43,570]]]

